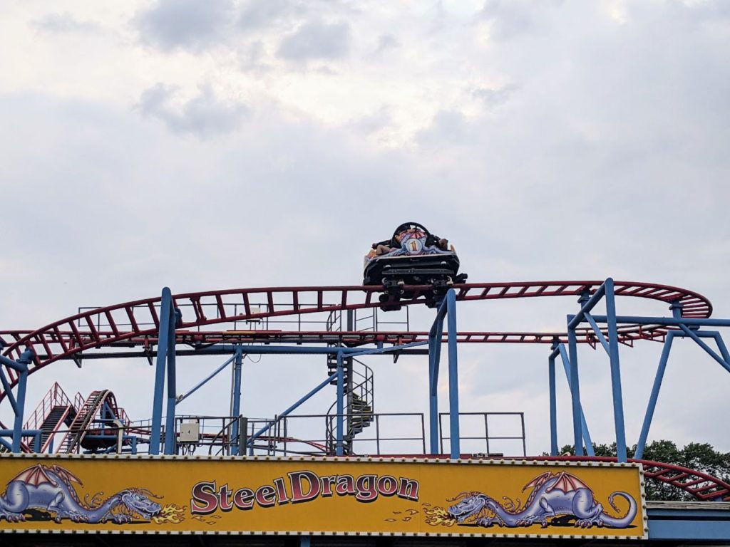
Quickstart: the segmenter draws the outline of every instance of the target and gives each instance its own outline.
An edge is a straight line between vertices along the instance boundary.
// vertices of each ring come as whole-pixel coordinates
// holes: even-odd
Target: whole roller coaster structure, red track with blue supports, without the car
[[[458,408],[458,346],[543,344],[549,348],[550,456],[529,457],[523,453],[510,454],[510,459],[634,462],[642,465],[647,478],[682,489],[698,501],[719,503],[718,506],[713,505],[712,511],[718,511],[720,506],[723,509],[730,507],[730,484],[722,478],[700,470],[642,459],[675,338],[691,339],[730,372],[730,354],[717,330],[730,327],[730,319],[712,318],[712,304],[704,296],[680,287],[614,282],[610,278],[602,281],[457,283],[450,284],[437,294],[435,318],[430,330],[410,330],[407,319],[402,322],[402,328],[396,330],[392,328],[393,321],[378,320],[378,311],[402,307],[407,312],[418,306],[434,306],[431,284],[401,285],[399,291],[398,295],[393,295],[387,287],[372,284],[266,287],[183,294],[172,294],[165,288],[157,298],[84,309],[37,330],[1,330],[0,401],[8,400],[15,421],[12,427],[0,424],[4,437],[0,437],[0,442],[8,451],[26,453],[140,454],[146,448],[147,454],[154,456],[161,453],[193,454],[208,446],[208,454],[213,454],[212,447],[216,447],[216,454],[231,457],[243,454],[358,457],[363,454],[357,449],[358,435],[382,419],[374,412],[372,371],[362,359],[377,354],[391,355],[395,359],[401,354],[423,354],[429,360],[429,414],[425,422],[423,416],[420,418],[423,457],[453,460],[499,458],[503,454],[491,454],[489,450],[484,454],[461,451],[460,423],[464,413],[460,413]],[[386,295],[385,298],[383,295]],[[559,332],[456,328],[458,303],[559,297],[577,298],[578,301],[575,312],[567,317],[566,329]],[[622,303],[629,298],[663,303],[669,306],[672,314],[670,317],[620,315],[616,311],[618,297],[621,297]],[[593,308],[601,301],[605,303],[605,315],[593,314]],[[363,322],[366,322],[365,327]],[[381,328],[383,325],[390,328]],[[707,344],[709,340],[715,342],[717,351]],[[641,341],[658,341],[663,344],[663,350],[635,458],[629,459],[624,432],[619,346],[630,348]],[[618,456],[613,459],[593,454],[580,399],[577,358],[580,344],[604,349],[610,363],[618,451]],[[447,413],[439,413],[437,392],[442,345],[446,346],[448,360]],[[176,359],[200,354],[229,357],[191,392],[178,394]],[[253,354],[324,355],[327,375],[317,387],[274,418],[246,419],[239,412],[240,372],[243,357]],[[108,389],[94,391],[87,397],[77,394],[72,399],[58,384],[51,388],[30,418],[24,419],[26,384],[31,374],[61,360],[72,360],[80,366],[82,360],[125,360],[132,357],[146,358],[150,365],[155,365],[153,412],[149,422],[131,422]],[[564,365],[569,382],[575,457],[558,454],[556,362]],[[234,379],[231,416],[215,419],[208,416],[209,422],[219,422],[212,430],[206,431],[203,427],[206,417],[176,413],[177,403],[224,369],[231,370]],[[165,384],[167,395],[164,394]],[[326,431],[316,438],[295,434],[291,424],[298,416],[293,414],[294,411],[330,385],[336,387],[336,400],[326,414],[317,416],[325,419]],[[442,427],[443,419],[447,419],[447,427]],[[524,444],[524,431],[521,438]],[[376,437],[375,440],[380,439]],[[488,447],[486,432],[485,440]],[[445,441],[449,445],[446,453],[442,449]],[[380,451],[379,445],[377,451],[371,449],[367,454],[369,457],[404,456],[403,453]],[[408,456],[418,457],[412,453]],[[657,524],[653,525],[653,537],[683,537],[685,532],[677,532],[661,524],[664,522],[661,514],[664,514],[661,510],[655,511],[655,516],[660,516],[655,518]],[[730,511],[727,515],[730,516]],[[715,521],[713,531],[707,532],[710,534],[707,538],[730,538],[727,516],[723,513],[723,518],[718,517]],[[707,519],[704,522],[710,526]]]

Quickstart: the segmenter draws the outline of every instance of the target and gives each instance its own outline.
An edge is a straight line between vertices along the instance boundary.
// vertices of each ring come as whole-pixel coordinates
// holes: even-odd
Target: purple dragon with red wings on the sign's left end
[[[82,503],[72,483],[82,484],[69,470],[58,465],[34,465],[10,479],[7,489],[0,494],[0,520],[26,520],[26,511],[39,509],[53,513],[53,520],[71,519],[74,522],[96,524],[111,520],[123,524],[137,514],[149,520],[161,511],[161,505],[150,500],[143,489],[125,489],[100,503]],[[149,492],[152,495],[151,492]],[[154,497],[154,496],[153,496]],[[112,510],[122,505],[120,512]]]

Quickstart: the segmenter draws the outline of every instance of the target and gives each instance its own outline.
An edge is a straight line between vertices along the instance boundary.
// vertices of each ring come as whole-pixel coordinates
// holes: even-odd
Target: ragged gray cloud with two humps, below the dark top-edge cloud
[[[235,131],[247,115],[242,104],[226,104],[215,97],[208,87],[198,96],[180,106],[174,105],[177,88],[164,84],[142,92],[137,105],[142,115],[161,120],[170,131],[191,133],[200,139],[210,139]]]

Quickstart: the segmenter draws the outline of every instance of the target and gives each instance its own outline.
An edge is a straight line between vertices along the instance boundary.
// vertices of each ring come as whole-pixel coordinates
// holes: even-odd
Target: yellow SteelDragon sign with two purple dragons
[[[636,465],[0,455],[0,532],[646,538]]]

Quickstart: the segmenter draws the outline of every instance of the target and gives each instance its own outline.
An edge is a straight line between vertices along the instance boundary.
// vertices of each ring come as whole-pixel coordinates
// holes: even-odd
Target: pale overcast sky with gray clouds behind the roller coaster
[[[730,317],[728,2],[4,0],[0,46],[0,330],[165,285],[358,284],[369,244],[410,220],[474,282],[674,284]],[[560,329],[574,300],[463,306],[459,327]],[[619,301],[637,310],[669,314]],[[730,375],[675,346],[651,438],[730,450]],[[635,443],[661,346],[621,351]],[[549,450],[547,354],[464,349],[462,409],[524,411],[529,451]],[[610,442],[607,359],[580,357]],[[218,362],[181,361],[180,389]],[[425,410],[425,359],[369,362],[377,411]],[[325,371],[247,361],[244,413],[279,413]],[[152,372],[57,363],[27,411],[59,381],[147,418]],[[180,411],[227,414],[228,381]]]

